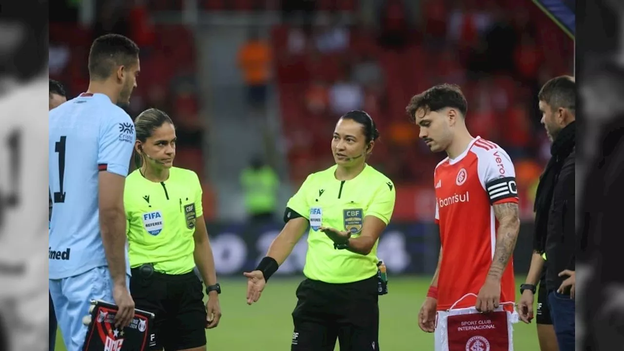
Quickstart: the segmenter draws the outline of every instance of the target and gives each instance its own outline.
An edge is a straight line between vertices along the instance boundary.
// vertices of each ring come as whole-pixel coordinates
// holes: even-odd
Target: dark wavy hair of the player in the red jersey
[[[430,87],[420,94],[412,96],[409,104],[405,108],[407,118],[415,122],[416,111],[424,109],[425,111],[440,111],[446,107],[454,107],[461,112],[462,116],[466,116],[468,111],[468,102],[462,92],[462,89],[455,84],[440,84]]]

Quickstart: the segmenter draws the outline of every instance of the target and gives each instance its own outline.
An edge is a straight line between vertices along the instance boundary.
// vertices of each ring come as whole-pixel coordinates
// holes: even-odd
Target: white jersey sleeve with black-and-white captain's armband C
[[[495,147],[479,157],[479,177],[490,198],[490,204],[518,202],[514,164],[507,152]]]

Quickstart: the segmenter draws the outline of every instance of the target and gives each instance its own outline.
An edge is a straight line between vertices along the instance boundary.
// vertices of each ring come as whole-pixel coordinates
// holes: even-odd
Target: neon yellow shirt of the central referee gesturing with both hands
[[[318,229],[332,227],[358,237],[367,215],[388,224],[396,192],[392,180],[371,166],[364,166],[354,179],[343,181],[336,179],[336,167],[308,175],[286,207],[310,220],[303,274],[327,283],[357,282],[377,274],[379,241],[368,255],[361,255],[334,249],[334,242]]]

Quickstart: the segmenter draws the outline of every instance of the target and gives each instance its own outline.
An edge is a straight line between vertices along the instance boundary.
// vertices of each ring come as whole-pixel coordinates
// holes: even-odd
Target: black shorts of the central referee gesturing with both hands
[[[306,279],[297,288],[291,351],[379,351],[377,276],[348,284]]]

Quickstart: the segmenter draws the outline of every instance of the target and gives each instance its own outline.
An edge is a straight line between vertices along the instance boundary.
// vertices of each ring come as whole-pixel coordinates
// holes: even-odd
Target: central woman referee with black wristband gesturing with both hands
[[[293,312],[293,351],[379,350],[377,244],[394,210],[392,181],[366,164],[378,138],[363,111],[342,116],[331,151],[336,165],[310,174],[286,205],[286,225],[256,270],[246,272],[253,304],[308,225],[308,253]],[[380,290],[383,290],[380,289]]]

